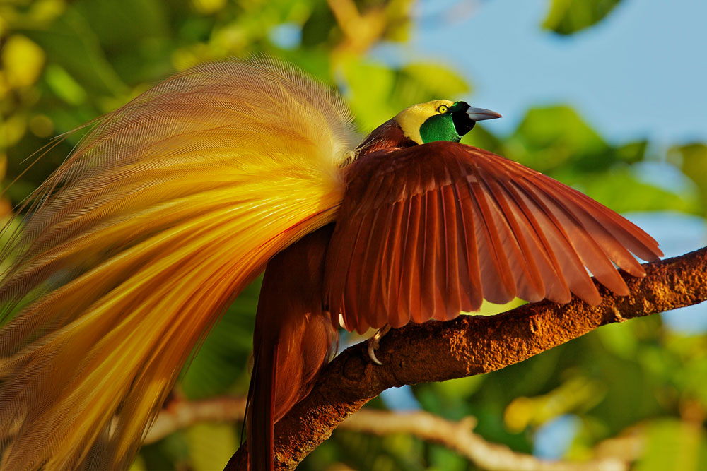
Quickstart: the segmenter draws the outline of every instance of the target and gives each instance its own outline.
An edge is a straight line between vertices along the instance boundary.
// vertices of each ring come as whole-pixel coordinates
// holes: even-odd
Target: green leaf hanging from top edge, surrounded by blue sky
[[[542,27],[560,35],[571,35],[604,19],[619,0],[551,0]]]

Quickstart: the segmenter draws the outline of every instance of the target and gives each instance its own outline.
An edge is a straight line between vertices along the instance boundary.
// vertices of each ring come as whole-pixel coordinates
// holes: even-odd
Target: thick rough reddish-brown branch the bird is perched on
[[[707,248],[645,263],[645,278],[624,275],[631,294],[599,287],[603,302],[526,304],[496,316],[460,316],[448,322],[391,330],[372,364],[363,342],[341,352],[320,374],[312,392],[275,427],[275,465],[292,470],[332,430],[383,390],[495,371],[578,338],[605,324],[697,304],[707,299]],[[247,444],[226,470],[247,469]]]

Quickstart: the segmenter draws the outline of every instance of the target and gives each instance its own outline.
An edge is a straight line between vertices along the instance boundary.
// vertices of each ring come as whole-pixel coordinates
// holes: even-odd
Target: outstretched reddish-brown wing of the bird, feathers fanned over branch
[[[482,299],[565,303],[573,293],[599,304],[587,269],[629,294],[614,263],[645,275],[630,252],[662,256],[624,217],[517,162],[469,145],[416,145],[349,167],[325,304],[358,332],[447,320]]]

